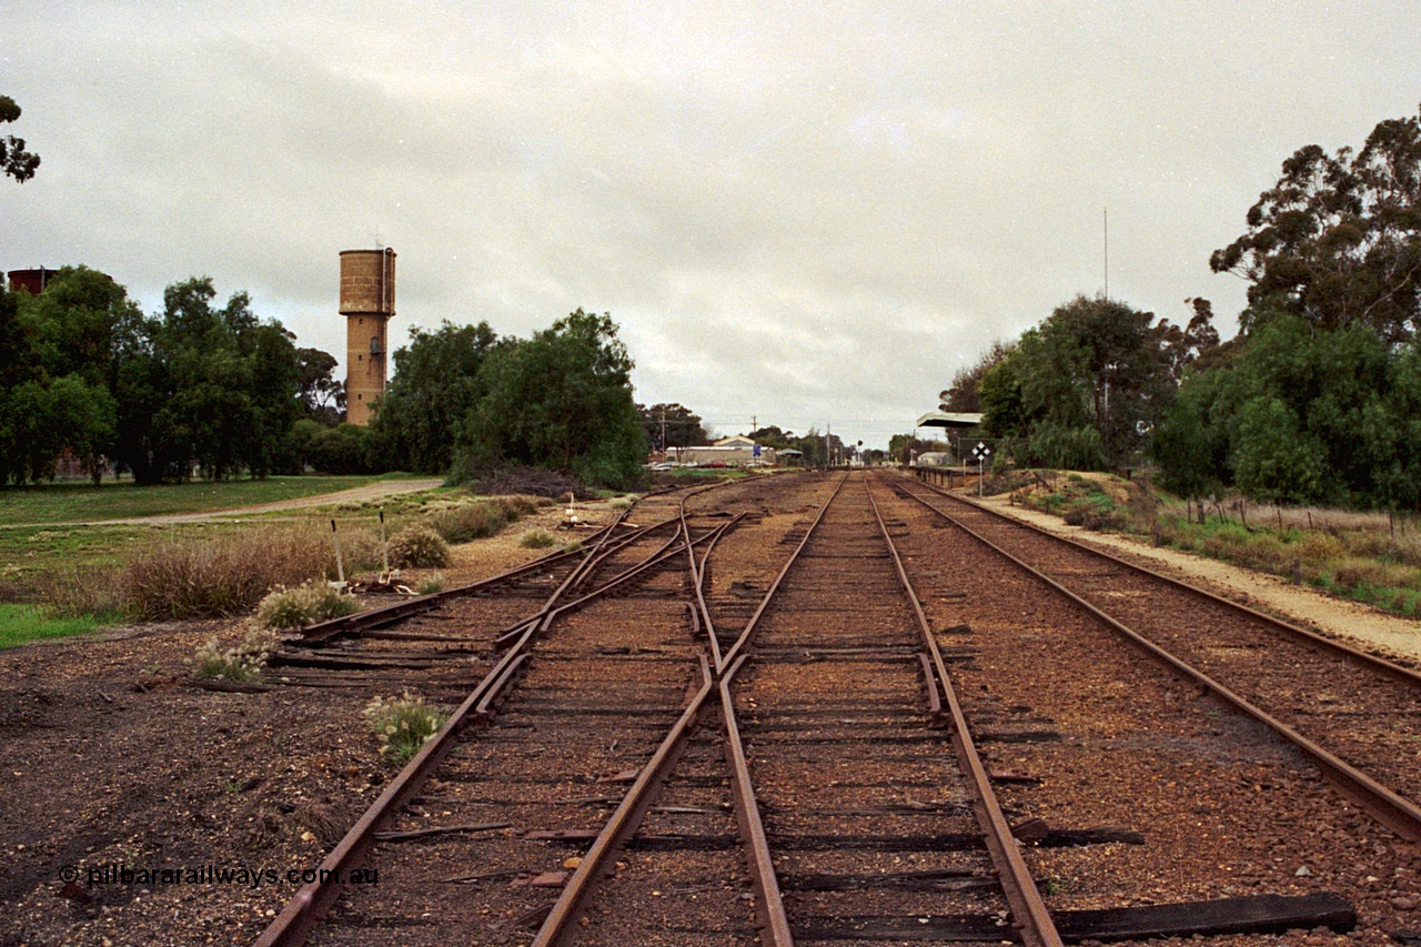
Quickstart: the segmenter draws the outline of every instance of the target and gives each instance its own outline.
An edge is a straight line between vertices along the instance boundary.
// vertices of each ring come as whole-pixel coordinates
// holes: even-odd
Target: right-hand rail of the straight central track
[[[874,519],[878,522],[878,532],[884,539],[884,545],[888,546],[888,553],[892,556],[898,582],[902,584],[904,594],[907,594],[908,601],[912,604],[912,613],[918,620],[918,633],[922,636],[922,644],[931,656],[932,668],[936,671],[936,684],[942,688],[942,694],[946,698],[948,715],[952,719],[952,749],[958,756],[958,766],[968,778],[968,788],[972,792],[972,808],[976,812],[978,825],[982,826],[982,835],[992,856],[992,863],[998,869],[1002,893],[1012,909],[1013,926],[1020,933],[1022,943],[1026,947],[1061,947],[1061,937],[1056,930],[1054,921],[1052,921],[1050,911],[1046,910],[1046,901],[1042,900],[1042,893],[1036,887],[1032,870],[1022,857],[1022,850],[1012,835],[1012,823],[1007,822],[1006,813],[1002,812],[1002,805],[996,799],[996,792],[992,789],[986,766],[982,765],[982,756],[978,754],[972,732],[968,729],[962,702],[958,700],[956,688],[952,687],[952,678],[948,677],[942,650],[932,634],[932,624],[928,621],[928,614],[922,609],[918,593],[914,592],[912,580],[902,565],[902,556],[898,555],[898,547],[888,535],[888,526],[884,523],[878,501],[874,499],[874,491],[868,479],[864,481],[864,491],[868,493],[868,503],[872,506]]]

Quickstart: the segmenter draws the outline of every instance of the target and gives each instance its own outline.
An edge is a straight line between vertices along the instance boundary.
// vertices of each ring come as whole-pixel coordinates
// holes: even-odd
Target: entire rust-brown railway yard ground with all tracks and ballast
[[[895,472],[601,519],[246,690],[0,656],[0,944],[1421,944],[1414,663]]]

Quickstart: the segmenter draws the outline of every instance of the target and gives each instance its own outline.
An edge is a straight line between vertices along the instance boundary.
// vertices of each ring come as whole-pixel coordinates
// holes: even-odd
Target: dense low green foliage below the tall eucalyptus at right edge
[[[1185,496],[1336,506],[1421,505],[1421,347],[1353,324],[1260,317],[1228,364],[1188,375],[1155,458]]]

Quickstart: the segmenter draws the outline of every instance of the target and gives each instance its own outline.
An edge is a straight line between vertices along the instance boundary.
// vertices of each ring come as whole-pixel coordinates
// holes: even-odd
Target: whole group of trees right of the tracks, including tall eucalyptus
[[[1017,462],[1152,461],[1185,496],[1421,508],[1421,117],[1283,162],[1211,267],[1248,280],[1239,333],[1077,297],[953,378]]]

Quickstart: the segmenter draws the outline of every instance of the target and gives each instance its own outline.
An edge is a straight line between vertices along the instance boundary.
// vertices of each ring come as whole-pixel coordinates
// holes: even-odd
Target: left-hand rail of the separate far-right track
[[[1316,744],[1312,739],[1309,739],[1307,737],[1303,737],[1300,732],[1297,732],[1296,729],[1293,729],[1292,727],[1289,727],[1283,721],[1277,719],[1276,717],[1273,717],[1268,711],[1265,711],[1260,707],[1258,707],[1256,704],[1250,702],[1248,698],[1245,698],[1241,694],[1235,692],[1233,690],[1225,687],[1223,684],[1215,681],[1208,674],[1204,674],[1202,671],[1196,670],[1191,664],[1188,664],[1188,663],[1182,661],[1181,658],[1175,657],[1169,651],[1165,651],[1158,644],[1155,644],[1154,641],[1148,640],[1147,637],[1144,637],[1138,631],[1134,631],[1133,628],[1127,627],[1121,621],[1118,621],[1118,620],[1113,619],[1111,616],[1106,614],[1104,611],[1101,611],[1100,609],[1097,609],[1094,604],[1091,604],[1086,599],[1081,599],[1080,596],[1077,596],[1074,592],[1071,592],[1066,586],[1060,584],[1059,582],[1056,582],[1050,576],[1047,576],[1047,574],[1039,572],[1037,569],[1032,567],[1026,562],[1017,559],[1016,556],[1013,556],[1012,553],[1006,552],[1005,549],[1002,549],[1000,546],[998,546],[992,540],[986,539],[985,536],[982,536],[976,530],[973,530],[969,526],[958,522],[956,519],[953,519],[946,512],[944,512],[944,510],[932,506],[932,503],[928,503],[921,496],[917,496],[917,495],[914,495],[911,492],[908,493],[908,496],[909,496],[909,499],[918,501],[925,508],[928,508],[928,509],[934,510],[935,513],[938,513],[939,516],[945,518],[948,522],[953,523],[958,529],[961,529],[966,535],[972,536],[973,539],[976,539],[978,542],[980,542],[988,549],[996,552],[998,555],[1000,555],[1007,562],[1015,563],[1017,567],[1020,567],[1026,573],[1034,576],[1036,579],[1040,579],[1042,582],[1044,582],[1046,584],[1049,584],[1052,589],[1054,589],[1056,592],[1059,592],[1060,594],[1066,596],[1067,599],[1070,599],[1071,601],[1074,601],[1076,604],[1079,604],[1081,609],[1084,609],[1090,614],[1093,614],[1097,619],[1100,619],[1101,621],[1104,621],[1110,628],[1113,628],[1114,631],[1117,631],[1118,634],[1121,634],[1123,637],[1125,637],[1128,641],[1131,641],[1135,646],[1138,646],[1147,654],[1150,654],[1154,658],[1162,661],[1167,667],[1172,668],[1174,671],[1177,671],[1184,678],[1192,680],[1195,684],[1198,684],[1205,691],[1216,695],[1218,698],[1221,698],[1222,701],[1225,701],[1226,704],[1229,704],[1231,707],[1233,707],[1239,712],[1242,712],[1242,714],[1245,714],[1248,717],[1252,717],[1253,719],[1259,721],[1260,724],[1263,724],[1265,727],[1268,727],[1269,729],[1272,729],[1273,732],[1276,732],[1277,735],[1280,735],[1287,742],[1293,744],[1304,756],[1307,756],[1309,759],[1312,759],[1317,765],[1317,768],[1322,771],[1323,776],[1329,782],[1331,782],[1333,786],[1336,786],[1339,792],[1341,792],[1344,796],[1347,796],[1354,803],[1357,803],[1358,808],[1361,808],[1364,812],[1370,813],[1374,819],[1377,819],[1377,822],[1380,822],[1381,825],[1387,826],[1388,829],[1391,829],[1393,832],[1395,832],[1403,839],[1407,839],[1408,842],[1418,842],[1418,840],[1421,840],[1421,806],[1417,806],[1417,803],[1414,803],[1410,799],[1401,796],[1395,791],[1393,791],[1393,789],[1381,785],[1380,782],[1377,782],[1376,779],[1373,779],[1367,774],[1361,772],[1360,769],[1357,769],[1351,764],[1346,762],[1344,759],[1341,759],[1336,754],[1333,754],[1329,749],[1323,748],[1320,744]]]

